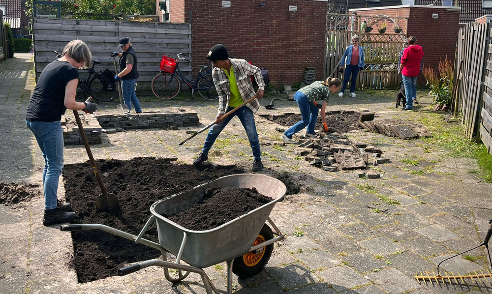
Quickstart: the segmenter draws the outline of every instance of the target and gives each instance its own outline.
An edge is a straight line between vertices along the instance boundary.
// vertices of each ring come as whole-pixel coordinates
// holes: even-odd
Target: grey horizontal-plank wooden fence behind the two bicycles
[[[121,37],[129,37],[138,58],[139,92],[151,91],[151,81],[159,73],[163,55],[176,58],[176,54],[184,53],[192,60],[190,24],[35,17],[33,30],[36,77],[56,59],[53,51],[62,53],[65,45],[74,39],[86,42],[91,48],[92,59],[102,61],[94,67],[96,70],[114,70],[113,58],[109,57],[109,53],[120,50],[118,40]],[[190,78],[190,64],[180,63],[180,69]],[[81,71],[81,76],[84,72]]]

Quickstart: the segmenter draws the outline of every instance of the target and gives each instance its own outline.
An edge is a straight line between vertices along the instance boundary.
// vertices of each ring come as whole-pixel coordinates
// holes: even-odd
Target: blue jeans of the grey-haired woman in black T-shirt
[[[58,179],[63,169],[63,131],[60,121],[31,121],[26,125],[36,137],[44,157],[43,194],[44,208],[57,207]]]

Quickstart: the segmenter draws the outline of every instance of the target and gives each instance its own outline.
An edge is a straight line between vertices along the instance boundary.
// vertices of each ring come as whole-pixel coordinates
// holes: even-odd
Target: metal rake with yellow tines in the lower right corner
[[[449,259],[452,259],[454,257],[457,257],[463,253],[466,253],[468,251],[472,251],[473,249],[477,249],[478,247],[480,246],[485,246],[485,248],[487,248],[487,253],[489,255],[489,262],[490,262],[490,265],[492,267],[492,259],[491,259],[491,253],[489,252],[489,240],[491,238],[491,235],[492,235],[492,219],[489,220],[489,230],[487,231],[487,235],[485,236],[485,239],[484,239],[484,242],[481,243],[480,245],[476,246],[476,247],[473,247],[469,250],[466,250],[466,251],[463,251],[461,253],[458,253],[452,257],[449,257],[445,260],[443,260],[442,262],[440,262],[438,265],[437,265],[437,275],[430,275],[429,273],[425,273],[427,274],[427,276],[425,276],[422,272],[420,272],[420,275],[418,275],[417,273],[415,274],[415,279],[417,281],[424,281],[424,283],[427,284],[427,282],[431,282],[431,284],[433,282],[436,282],[437,284],[439,284],[439,281],[441,283],[445,283],[446,281],[448,283],[459,283],[459,281],[461,281],[461,283],[465,283],[463,281],[463,279],[471,279],[472,282],[475,282],[473,279],[477,279],[479,282],[481,282],[480,278],[483,278],[485,280],[485,282],[487,282],[487,278],[491,278],[491,281],[492,281],[492,272],[487,269],[487,273],[484,273],[482,270],[480,270],[480,273],[477,273],[477,271],[475,271],[473,274],[472,273],[468,273],[466,275],[460,275],[459,272],[457,272],[458,274],[455,275],[453,274],[453,272],[449,272],[449,273],[446,273],[446,271],[444,271],[444,275],[441,275],[439,273],[439,265],[441,265],[443,262],[449,260]]]

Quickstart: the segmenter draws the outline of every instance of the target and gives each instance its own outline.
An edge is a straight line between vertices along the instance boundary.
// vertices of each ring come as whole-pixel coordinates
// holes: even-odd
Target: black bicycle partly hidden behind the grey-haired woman
[[[55,52],[58,58],[62,57],[60,53],[56,51],[53,52]],[[92,98],[100,102],[110,102],[118,97],[118,88],[116,88],[118,86],[116,82],[111,82],[110,80],[108,80],[109,78],[113,79],[115,74],[112,73],[112,77],[105,77],[104,71],[96,72],[94,70],[94,65],[100,63],[101,60],[92,60],[92,67],[89,67],[87,69],[79,69],[87,70],[89,72],[89,76],[87,77],[87,79],[79,77],[77,89],[84,94],[84,99],[86,99],[87,94],[90,93],[90,96],[92,96]]]

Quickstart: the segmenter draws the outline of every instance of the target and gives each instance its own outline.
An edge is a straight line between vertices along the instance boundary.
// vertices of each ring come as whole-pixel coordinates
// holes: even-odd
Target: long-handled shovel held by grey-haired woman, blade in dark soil
[[[84,141],[84,146],[86,147],[87,155],[89,156],[89,160],[91,161],[92,169],[94,169],[94,175],[97,178],[97,182],[99,183],[99,187],[101,187],[102,195],[97,196],[95,199],[95,209],[97,211],[104,210],[120,210],[120,202],[116,195],[113,193],[108,193],[106,187],[104,186],[104,182],[102,181],[102,177],[97,170],[97,166],[95,165],[94,157],[92,156],[91,147],[89,147],[89,142],[87,141],[86,133],[84,132],[84,127],[82,126],[82,122],[80,121],[79,114],[76,110],[73,111],[73,115],[75,120],[77,121],[77,126],[79,127],[80,135],[82,136],[82,141]]]

